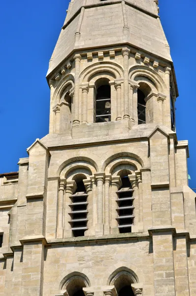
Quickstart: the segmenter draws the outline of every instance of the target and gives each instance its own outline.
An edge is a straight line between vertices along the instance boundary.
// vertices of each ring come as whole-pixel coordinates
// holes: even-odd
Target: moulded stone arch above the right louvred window
[[[140,151],[139,151],[140,150]],[[138,154],[143,153],[141,149],[138,149]],[[103,165],[101,171],[105,174],[111,174],[112,171],[120,164],[129,164],[134,167],[134,170],[140,170],[144,166],[144,162],[140,156],[132,152],[120,152],[108,157]]]

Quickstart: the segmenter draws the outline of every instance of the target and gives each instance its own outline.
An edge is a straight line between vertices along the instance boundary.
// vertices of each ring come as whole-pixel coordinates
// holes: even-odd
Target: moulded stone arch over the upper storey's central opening
[[[113,78],[123,77],[123,68],[120,65],[113,62],[98,62],[88,66],[81,72],[79,76],[80,82],[89,82],[92,76],[100,72],[105,72],[107,75],[112,76]]]

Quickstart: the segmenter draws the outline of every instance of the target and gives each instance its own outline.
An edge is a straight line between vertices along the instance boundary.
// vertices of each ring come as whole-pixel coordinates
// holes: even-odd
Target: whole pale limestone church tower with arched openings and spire
[[[195,296],[158,0],[71,0],[47,80],[49,134],[0,175],[0,296]]]

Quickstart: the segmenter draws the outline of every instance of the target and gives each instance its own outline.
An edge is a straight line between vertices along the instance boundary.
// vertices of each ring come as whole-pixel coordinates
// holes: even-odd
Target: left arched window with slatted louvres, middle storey
[[[72,203],[69,205],[71,208],[71,230],[73,236],[84,236],[87,228],[87,197],[86,188],[83,180],[76,182],[77,189],[73,195],[70,196]]]

